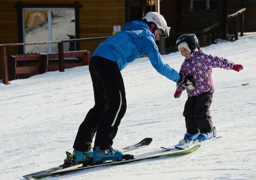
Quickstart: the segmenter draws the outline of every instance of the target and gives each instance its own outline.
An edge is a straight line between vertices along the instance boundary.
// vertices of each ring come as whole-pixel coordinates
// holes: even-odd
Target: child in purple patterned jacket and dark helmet
[[[183,34],[176,40],[178,50],[185,57],[180,73],[196,85],[196,89],[187,91],[188,100],[185,103],[183,116],[185,117],[187,133],[180,144],[196,139],[205,141],[216,135],[210,116],[210,105],[214,86],[212,82],[212,68],[240,71],[243,65],[234,64],[225,58],[206,54],[200,47],[195,34]],[[185,90],[180,84],[174,94],[179,98]]]

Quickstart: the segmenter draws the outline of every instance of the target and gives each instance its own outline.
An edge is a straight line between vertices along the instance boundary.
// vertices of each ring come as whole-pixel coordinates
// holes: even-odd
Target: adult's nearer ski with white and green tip
[[[95,167],[114,166],[114,165],[121,165],[121,164],[130,163],[130,162],[148,160],[148,159],[153,159],[153,158],[179,156],[179,155],[183,155],[183,154],[192,153],[192,152],[196,151],[200,146],[201,146],[200,144],[196,144],[193,147],[189,147],[189,148],[182,149],[182,150],[176,150],[176,151],[172,151],[169,153],[156,154],[156,155],[152,155],[152,156],[146,156],[146,157],[135,158],[135,159],[131,159],[131,160],[124,160],[124,161],[103,162],[103,163],[97,164],[97,165],[91,165],[91,166],[86,166],[86,167],[77,167],[74,169],[62,170],[62,171],[57,171],[57,172],[52,172],[52,173],[47,173],[47,174],[42,174],[42,175],[36,175],[36,176],[33,176],[33,178],[41,179],[41,178],[47,178],[47,177],[60,176],[60,175],[64,175],[64,174],[71,174],[71,173],[75,173],[78,171],[91,169],[91,168],[95,168]]]

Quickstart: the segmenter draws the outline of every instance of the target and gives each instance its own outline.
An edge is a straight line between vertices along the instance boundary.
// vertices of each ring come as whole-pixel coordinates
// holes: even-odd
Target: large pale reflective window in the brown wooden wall
[[[75,39],[74,8],[23,8],[24,42]],[[75,46],[64,43],[64,51],[75,51]],[[24,45],[25,53],[58,51],[57,44]]]

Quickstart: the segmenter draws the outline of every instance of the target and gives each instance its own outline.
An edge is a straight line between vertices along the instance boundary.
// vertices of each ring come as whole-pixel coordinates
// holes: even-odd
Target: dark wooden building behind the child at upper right
[[[181,33],[200,32],[218,21],[219,1],[224,0],[162,0],[160,12],[171,26],[170,37],[166,46],[174,46],[175,39]],[[256,1],[255,0],[226,0],[227,14],[232,14],[246,7],[244,14],[244,32],[256,32]],[[225,7],[223,7],[225,8]],[[238,17],[240,24],[241,17]],[[227,20],[227,32],[232,34],[232,19]],[[238,26],[238,31],[241,28]]]

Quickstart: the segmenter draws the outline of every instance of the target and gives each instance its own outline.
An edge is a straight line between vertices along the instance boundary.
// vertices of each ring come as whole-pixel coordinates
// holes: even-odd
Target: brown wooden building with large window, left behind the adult
[[[125,0],[0,0],[0,7],[0,44],[110,36],[113,26],[125,24]],[[66,11],[67,15],[61,11]],[[62,31],[63,23],[69,31]],[[94,51],[99,43],[81,42],[72,50]],[[39,49],[43,46],[47,45],[40,45]],[[34,49],[34,53],[47,51]],[[48,49],[48,52],[56,51],[55,47]],[[7,51],[10,54],[33,52],[22,46],[7,47]]]

